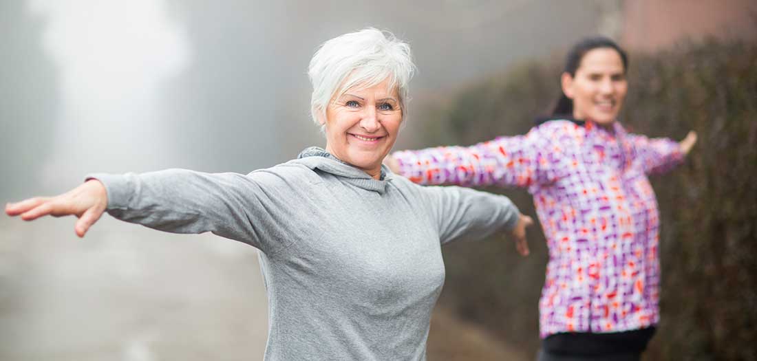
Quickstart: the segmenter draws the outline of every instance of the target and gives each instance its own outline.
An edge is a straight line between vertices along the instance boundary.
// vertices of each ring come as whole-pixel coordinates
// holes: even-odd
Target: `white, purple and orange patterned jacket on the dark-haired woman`
[[[397,151],[427,185],[528,188],[549,246],[540,335],[630,331],[659,321],[659,212],[647,178],[681,163],[678,142],[615,122],[552,120],[471,147]]]

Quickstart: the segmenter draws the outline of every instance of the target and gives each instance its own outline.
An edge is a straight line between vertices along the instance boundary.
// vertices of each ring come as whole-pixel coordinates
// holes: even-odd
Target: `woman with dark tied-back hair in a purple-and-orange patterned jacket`
[[[387,164],[422,184],[528,188],[549,246],[541,360],[640,358],[659,321],[659,213],[647,178],[681,163],[683,141],[626,132],[616,117],[628,58],[610,39],[569,51],[553,117],[471,147],[398,151]],[[523,241],[519,249],[528,252]]]

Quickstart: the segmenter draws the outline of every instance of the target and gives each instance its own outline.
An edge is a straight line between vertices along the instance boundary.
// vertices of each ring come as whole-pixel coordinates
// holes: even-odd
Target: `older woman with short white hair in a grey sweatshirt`
[[[410,47],[375,29],[324,43],[310,62],[313,120],[326,149],[248,175],[164,170],[93,174],[52,198],[8,204],[25,220],[102,213],[257,247],[269,293],[266,359],[425,359],[444,283],[441,245],[512,233],[531,219],[505,197],[422,187],[391,174],[407,111]]]

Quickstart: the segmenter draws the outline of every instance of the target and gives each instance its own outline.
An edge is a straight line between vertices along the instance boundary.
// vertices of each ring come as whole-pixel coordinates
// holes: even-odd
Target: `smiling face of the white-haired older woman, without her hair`
[[[375,179],[397,140],[402,109],[388,79],[369,88],[348,89],[326,108],[326,151]]]

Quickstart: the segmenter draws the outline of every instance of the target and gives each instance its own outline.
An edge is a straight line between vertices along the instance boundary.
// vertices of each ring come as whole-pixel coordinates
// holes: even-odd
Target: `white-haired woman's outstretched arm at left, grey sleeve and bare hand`
[[[264,252],[282,247],[282,244],[269,244],[273,238],[265,235],[291,216],[289,207],[272,196],[285,191],[288,185],[266,170],[247,176],[162,170],[142,174],[95,174],[90,178],[92,180],[64,195],[9,204],[6,212],[27,220],[45,215],[79,216],[76,234],[83,236],[107,210],[117,219],[152,229],[174,233],[213,232]]]

